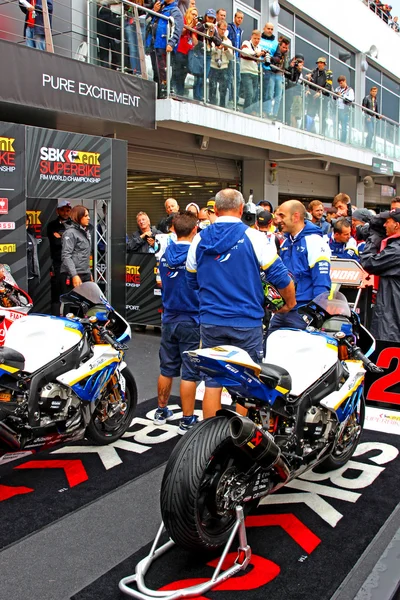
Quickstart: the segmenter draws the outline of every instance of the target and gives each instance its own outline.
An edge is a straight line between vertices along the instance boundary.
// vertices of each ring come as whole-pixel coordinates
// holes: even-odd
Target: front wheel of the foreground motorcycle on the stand
[[[350,415],[346,429],[343,431],[340,438],[335,440],[331,454],[318,466],[317,470],[319,472],[326,473],[328,471],[340,469],[350,460],[360,441],[364,419],[365,399],[362,395],[355,410]],[[357,425],[361,427],[361,431],[358,434],[355,431],[352,433],[351,429]],[[350,436],[348,440],[346,440],[346,435]]]

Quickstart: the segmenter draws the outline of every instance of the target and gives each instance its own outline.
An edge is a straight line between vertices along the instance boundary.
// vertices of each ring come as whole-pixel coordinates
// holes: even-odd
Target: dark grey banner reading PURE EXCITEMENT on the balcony
[[[0,56],[13,65],[3,69],[0,102],[155,129],[152,81],[5,41]]]

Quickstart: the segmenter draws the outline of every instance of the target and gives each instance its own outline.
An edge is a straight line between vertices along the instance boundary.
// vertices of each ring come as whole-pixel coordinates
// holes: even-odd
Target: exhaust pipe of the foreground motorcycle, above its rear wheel
[[[251,460],[263,469],[275,467],[282,481],[289,479],[290,470],[281,456],[281,449],[274,442],[273,437],[259,429],[247,417],[237,415],[229,422],[232,441]]]

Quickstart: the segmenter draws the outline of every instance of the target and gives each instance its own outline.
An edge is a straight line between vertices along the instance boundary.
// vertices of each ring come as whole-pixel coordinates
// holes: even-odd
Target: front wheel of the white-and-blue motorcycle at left
[[[113,401],[115,402],[113,385],[109,382],[100,396],[90,423],[86,428],[85,435],[88,440],[99,446],[111,444],[118,440],[126,432],[135,415],[137,405],[135,378],[126,367],[121,375],[125,379],[124,402],[126,408],[123,411],[118,410],[112,416],[108,416],[108,410],[113,408]],[[121,390],[118,389],[118,392],[121,393]]]

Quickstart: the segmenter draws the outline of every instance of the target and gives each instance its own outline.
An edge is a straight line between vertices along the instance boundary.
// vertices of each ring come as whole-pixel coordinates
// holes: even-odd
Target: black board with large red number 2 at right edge
[[[365,399],[373,404],[391,405],[391,408],[400,410],[400,343],[377,340],[376,350],[370,359],[384,372],[367,371]]]

